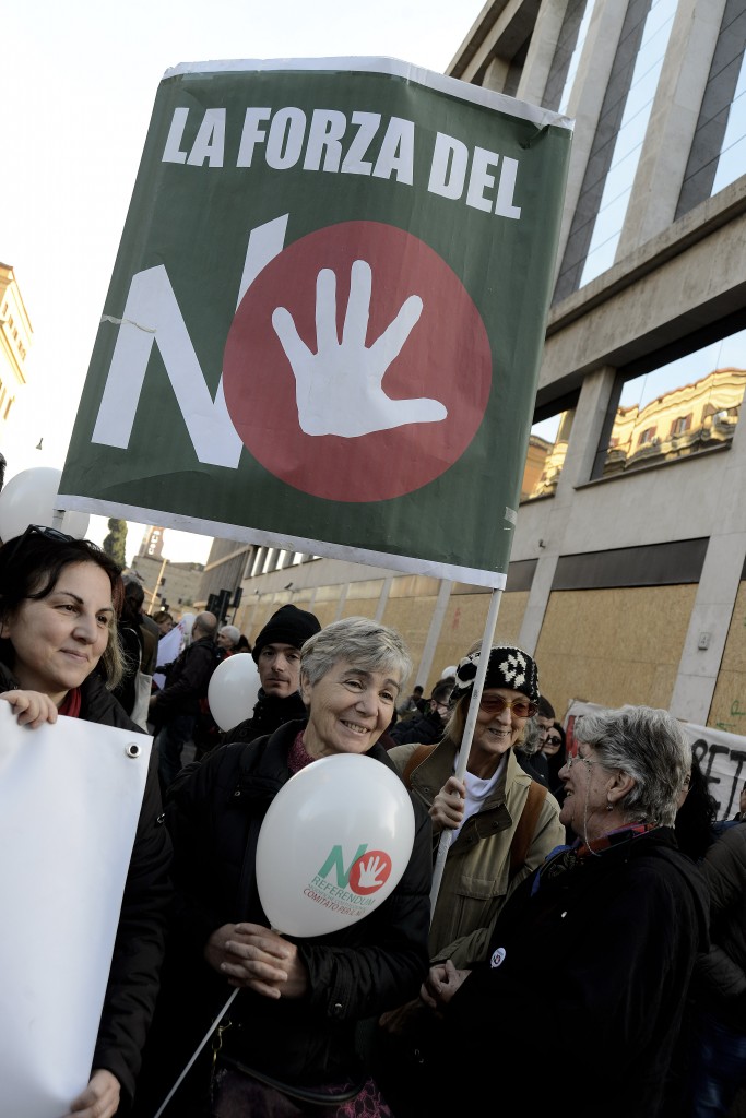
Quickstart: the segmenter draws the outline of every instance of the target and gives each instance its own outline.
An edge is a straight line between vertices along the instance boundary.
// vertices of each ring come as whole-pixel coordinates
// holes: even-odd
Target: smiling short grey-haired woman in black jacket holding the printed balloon
[[[379,738],[410,667],[396,631],[363,617],[334,622],[309,636],[301,650],[306,718],[283,723],[252,742],[221,746],[201,765],[183,770],[172,785],[167,816],[179,902],[167,953],[168,977],[145,1058],[151,1080],[135,1099],[138,1118],[152,1118],[152,1103],[169,1098],[169,1088],[174,1090],[211,1022],[219,1023],[213,1042],[218,1051],[213,1099],[205,1097],[210,1078],[207,1052],[204,1061],[196,1060],[183,1087],[177,1088],[173,1107],[167,1103],[168,1118],[171,1114],[179,1118],[390,1115],[360,1062],[356,1034],[363,1018],[396,1005],[403,996],[414,996],[427,974],[432,879],[427,813],[413,807],[414,843],[402,853],[398,883],[380,904],[375,885],[366,887],[370,911],[352,922],[346,922],[344,915],[344,897],[350,903],[352,894],[346,894],[340,881],[346,836],[333,832],[336,871],[323,836],[312,887],[334,921],[323,935],[283,936],[282,928],[270,927],[257,887],[257,845],[277,794],[320,759],[361,755],[394,774]],[[398,790],[396,781],[394,787]],[[370,794],[377,794],[375,786]],[[329,796],[333,819],[333,787]],[[381,797],[380,813],[388,808]],[[290,828],[294,834],[294,817],[285,826],[289,835]],[[308,843],[313,841],[309,831]],[[352,856],[358,841],[362,840],[356,839],[350,847]],[[283,856],[282,850],[273,852],[272,877],[277,882],[290,877],[283,872]],[[350,853],[344,856],[349,860]],[[352,880],[351,871],[348,877]],[[337,910],[339,917],[333,915]],[[232,988],[239,993],[228,1020],[220,1022]]]

